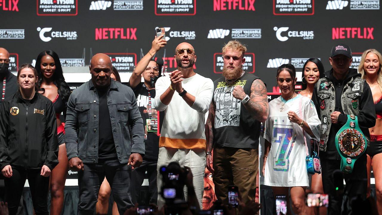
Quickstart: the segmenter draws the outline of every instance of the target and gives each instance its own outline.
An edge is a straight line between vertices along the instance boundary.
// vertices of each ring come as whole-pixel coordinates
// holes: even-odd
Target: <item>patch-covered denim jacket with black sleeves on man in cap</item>
[[[349,69],[349,74],[342,82],[343,87],[340,88],[340,95],[336,94],[335,88],[338,89],[339,86],[333,83],[334,78],[332,74],[332,70],[325,72],[327,77],[319,79],[314,89],[316,98],[312,97],[321,119],[321,140],[319,143],[321,151],[327,151],[327,145],[334,144],[335,135],[339,127],[346,123],[347,115],[354,114],[358,116],[359,126],[368,141],[368,128],[375,125],[372,94],[369,85],[367,85],[364,79],[360,78],[361,75],[357,73],[357,70]],[[334,125],[330,120],[330,114],[335,111],[336,106],[340,107],[340,112],[342,113],[338,116],[338,125],[336,125],[338,129],[332,129]]]

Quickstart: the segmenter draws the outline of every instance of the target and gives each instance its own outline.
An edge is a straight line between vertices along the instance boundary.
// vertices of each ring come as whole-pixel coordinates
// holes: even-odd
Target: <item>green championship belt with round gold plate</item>
[[[348,121],[337,132],[335,147],[342,158],[342,172],[351,173],[356,160],[366,151],[367,140],[358,126],[357,116],[347,116]]]

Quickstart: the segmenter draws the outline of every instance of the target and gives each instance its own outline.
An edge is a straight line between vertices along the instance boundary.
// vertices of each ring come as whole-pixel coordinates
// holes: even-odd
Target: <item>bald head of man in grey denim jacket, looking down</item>
[[[95,87],[105,87],[110,85],[112,61],[108,55],[102,53],[94,55],[90,61],[89,69]]]

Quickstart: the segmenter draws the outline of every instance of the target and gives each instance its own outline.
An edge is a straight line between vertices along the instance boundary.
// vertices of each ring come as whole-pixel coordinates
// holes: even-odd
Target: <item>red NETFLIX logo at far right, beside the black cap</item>
[[[374,39],[374,28],[332,28],[332,39]]]

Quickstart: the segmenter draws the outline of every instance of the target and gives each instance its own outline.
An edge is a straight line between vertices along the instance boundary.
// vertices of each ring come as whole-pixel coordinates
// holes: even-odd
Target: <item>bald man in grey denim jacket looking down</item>
[[[131,88],[110,78],[109,56],[94,55],[89,69],[91,80],[69,97],[65,124],[69,166],[78,170],[78,214],[94,213],[105,177],[123,214],[133,206],[131,167],[141,165],[145,151],[142,117]]]

